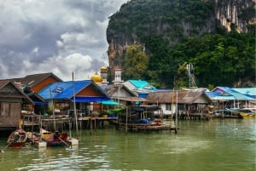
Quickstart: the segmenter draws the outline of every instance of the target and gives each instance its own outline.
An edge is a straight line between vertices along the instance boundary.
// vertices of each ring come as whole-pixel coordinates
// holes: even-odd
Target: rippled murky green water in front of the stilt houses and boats
[[[105,124],[106,125],[106,124]],[[169,131],[72,131],[79,146],[40,149],[26,145],[0,154],[0,170],[255,171],[254,118],[178,121]],[[4,147],[7,137],[0,138]]]

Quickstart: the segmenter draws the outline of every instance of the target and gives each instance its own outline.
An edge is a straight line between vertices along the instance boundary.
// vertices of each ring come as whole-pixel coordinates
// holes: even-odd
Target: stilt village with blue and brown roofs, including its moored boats
[[[178,119],[255,117],[256,88],[157,89],[143,80],[123,81],[121,74],[115,69],[109,83],[108,69],[102,66],[100,74],[81,81],[64,82],[51,72],[0,80],[0,132],[9,133],[2,152],[27,143],[76,146],[79,140],[68,130],[92,132],[106,123],[125,134],[177,134]]]

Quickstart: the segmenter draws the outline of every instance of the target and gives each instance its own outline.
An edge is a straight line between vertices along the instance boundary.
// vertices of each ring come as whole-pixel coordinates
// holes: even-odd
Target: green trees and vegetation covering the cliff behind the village
[[[145,79],[158,88],[188,87],[186,66],[192,63],[199,87],[255,85],[255,25],[248,25],[247,33],[237,33],[231,23],[231,31],[227,32],[216,24],[214,2],[125,3],[110,17],[107,30],[108,43],[131,45],[123,51],[123,57],[114,59],[123,66],[124,79]],[[241,10],[239,16],[245,16],[247,21],[248,13],[255,17],[251,7]],[[132,56],[131,47],[136,48],[135,44],[140,44],[135,56],[145,52],[148,60]],[[135,61],[140,70],[132,67],[131,62]]]

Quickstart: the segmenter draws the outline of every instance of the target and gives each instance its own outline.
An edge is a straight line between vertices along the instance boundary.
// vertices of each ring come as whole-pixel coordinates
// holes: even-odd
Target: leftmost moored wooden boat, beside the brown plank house
[[[27,134],[22,128],[16,129],[9,135],[7,143],[9,148],[20,149],[26,144]]]

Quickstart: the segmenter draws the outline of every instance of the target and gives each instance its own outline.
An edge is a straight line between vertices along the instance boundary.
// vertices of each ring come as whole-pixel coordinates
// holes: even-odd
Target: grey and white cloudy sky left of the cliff
[[[88,79],[108,66],[108,16],[127,0],[0,2],[0,79],[53,72]]]

